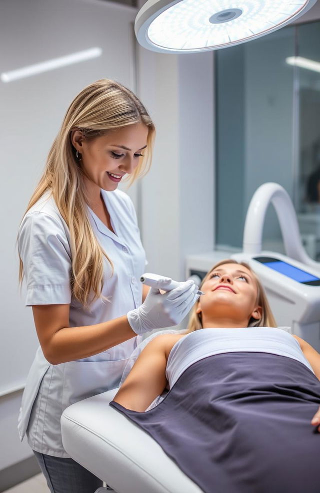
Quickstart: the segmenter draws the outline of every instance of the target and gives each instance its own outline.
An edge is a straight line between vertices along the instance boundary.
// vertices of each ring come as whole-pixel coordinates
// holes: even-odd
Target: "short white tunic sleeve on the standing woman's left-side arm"
[[[63,228],[44,212],[26,214],[18,232],[26,281],[25,306],[71,301],[71,254]]]

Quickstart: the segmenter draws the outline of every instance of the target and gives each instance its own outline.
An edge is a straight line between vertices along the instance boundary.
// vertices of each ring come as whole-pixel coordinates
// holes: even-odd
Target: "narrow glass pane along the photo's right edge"
[[[297,211],[301,234],[320,260],[320,23],[297,29],[300,63],[296,68],[299,104]],[[311,65],[310,61],[316,62]]]

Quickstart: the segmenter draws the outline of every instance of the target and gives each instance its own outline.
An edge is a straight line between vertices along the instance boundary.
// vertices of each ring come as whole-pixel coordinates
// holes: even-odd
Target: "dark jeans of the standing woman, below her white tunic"
[[[102,480],[75,460],[35,452],[51,493],[94,493]]]

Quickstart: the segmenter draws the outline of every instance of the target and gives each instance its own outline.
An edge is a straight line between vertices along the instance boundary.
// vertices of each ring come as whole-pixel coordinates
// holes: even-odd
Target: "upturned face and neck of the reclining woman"
[[[250,271],[239,264],[223,264],[211,271],[201,285],[196,313],[202,327],[247,327],[251,317],[261,318],[257,285]]]

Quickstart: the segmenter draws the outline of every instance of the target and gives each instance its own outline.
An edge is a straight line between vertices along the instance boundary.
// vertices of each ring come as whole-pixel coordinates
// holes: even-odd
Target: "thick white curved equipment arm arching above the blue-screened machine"
[[[243,252],[253,255],[261,253],[264,218],[270,202],[280,224],[286,255],[319,269],[319,263],[308,257],[302,246],[293,204],[288,193],[278,183],[264,183],[253,194],[245,218]]]

